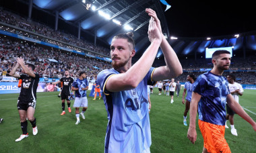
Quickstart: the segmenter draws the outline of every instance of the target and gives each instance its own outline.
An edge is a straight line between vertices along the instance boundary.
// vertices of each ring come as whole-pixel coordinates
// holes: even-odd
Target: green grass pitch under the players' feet
[[[90,91],[88,91],[89,95]],[[185,105],[180,97],[174,96],[174,103],[170,104],[170,97],[158,95],[158,89],[150,96],[152,109],[150,124],[152,132],[151,152],[201,152],[203,138],[197,125],[197,141],[191,144],[187,139],[188,127],[183,125]],[[240,97],[241,105],[256,121],[256,102],[254,90],[245,90]],[[72,112],[61,114],[61,99],[58,92],[37,93],[36,121],[38,134],[33,136],[32,126],[28,122],[28,138],[15,142],[21,134],[20,118],[17,111],[18,94],[0,95],[0,152],[104,152],[104,137],[107,125],[107,115],[103,100],[92,101],[88,97],[86,119],[81,119],[75,125],[75,109],[71,101]],[[81,111],[81,110],[80,110]],[[189,123],[189,117],[187,119]],[[230,123],[228,122],[230,126]],[[247,121],[240,116],[234,116],[234,125],[238,136],[232,136],[230,129],[226,129],[225,138],[232,152],[256,152],[256,132]]]

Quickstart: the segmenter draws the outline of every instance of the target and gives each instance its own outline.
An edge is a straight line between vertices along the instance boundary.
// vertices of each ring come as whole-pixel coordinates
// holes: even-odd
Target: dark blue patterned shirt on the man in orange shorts
[[[225,125],[226,96],[230,94],[225,77],[208,71],[201,74],[194,83],[193,92],[201,95],[198,114],[201,121]]]

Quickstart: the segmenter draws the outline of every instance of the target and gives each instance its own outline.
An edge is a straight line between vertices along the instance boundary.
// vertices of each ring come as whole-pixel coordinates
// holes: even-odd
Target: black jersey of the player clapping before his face
[[[36,89],[38,87],[39,75],[36,77],[30,77],[28,74],[22,74],[22,89],[20,90],[20,101],[36,101]]]

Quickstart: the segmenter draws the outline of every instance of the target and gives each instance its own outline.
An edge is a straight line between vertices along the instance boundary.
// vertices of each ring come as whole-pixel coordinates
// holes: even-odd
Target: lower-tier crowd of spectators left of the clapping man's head
[[[100,70],[111,67],[109,62],[10,40],[3,36],[0,38],[0,44],[0,75],[3,76],[8,76],[18,56],[24,58],[26,63],[34,64],[40,77],[46,78],[61,78],[68,69],[71,77],[79,77],[80,71],[86,71],[88,79],[94,79]],[[49,59],[58,62],[50,62]],[[21,72],[21,68],[18,70]]]

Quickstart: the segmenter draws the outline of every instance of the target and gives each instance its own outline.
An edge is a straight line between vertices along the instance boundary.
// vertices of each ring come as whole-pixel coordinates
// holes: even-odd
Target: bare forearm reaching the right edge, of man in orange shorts
[[[228,94],[226,97],[226,102],[228,103],[228,106],[236,112],[239,116],[241,116],[245,121],[250,123],[253,126],[253,129],[256,132],[256,123],[253,121],[253,119],[245,112],[243,107],[239,103],[237,103],[231,94]]]

